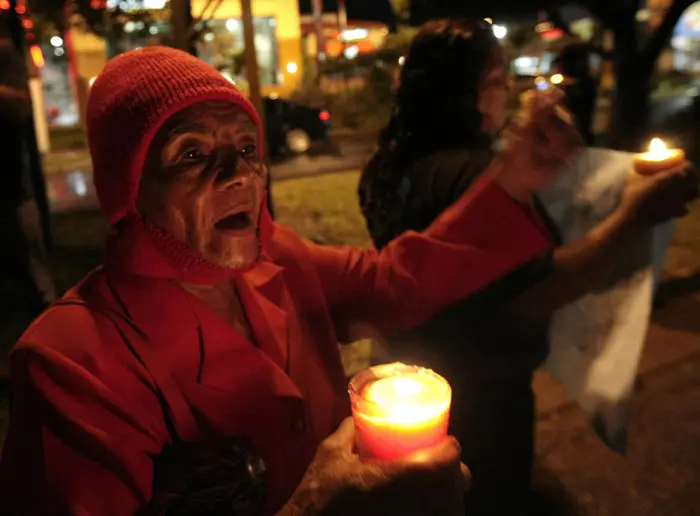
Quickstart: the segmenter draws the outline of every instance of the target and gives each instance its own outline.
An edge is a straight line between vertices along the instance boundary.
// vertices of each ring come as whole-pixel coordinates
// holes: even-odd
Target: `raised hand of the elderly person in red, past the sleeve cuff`
[[[581,150],[583,140],[557,88],[533,93],[505,134],[496,180],[513,198],[530,202]]]

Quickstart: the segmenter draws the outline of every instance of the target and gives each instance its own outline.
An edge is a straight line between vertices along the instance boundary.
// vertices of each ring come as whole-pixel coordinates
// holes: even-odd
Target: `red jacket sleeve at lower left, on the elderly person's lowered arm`
[[[124,516],[151,497],[164,444],[157,398],[109,352],[124,345],[96,342],[108,334],[75,310],[89,317],[50,310],[11,355],[3,514]]]

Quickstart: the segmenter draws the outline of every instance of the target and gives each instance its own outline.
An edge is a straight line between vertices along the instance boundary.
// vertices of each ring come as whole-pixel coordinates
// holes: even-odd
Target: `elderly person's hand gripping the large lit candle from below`
[[[453,437],[396,461],[362,460],[355,426],[346,419],[316,453],[301,484],[280,514],[457,516],[469,472]]]

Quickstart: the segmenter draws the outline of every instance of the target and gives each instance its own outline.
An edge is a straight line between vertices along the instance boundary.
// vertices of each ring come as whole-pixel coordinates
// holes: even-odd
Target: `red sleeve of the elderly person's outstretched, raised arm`
[[[384,335],[414,326],[552,247],[490,176],[476,182],[423,233],[381,252],[307,244],[338,336],[368,323]]]

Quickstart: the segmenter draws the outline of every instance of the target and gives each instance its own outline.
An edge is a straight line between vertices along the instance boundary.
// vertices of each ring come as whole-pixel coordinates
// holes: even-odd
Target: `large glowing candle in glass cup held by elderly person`
[[[401,363],[371,367],[350,382],[363,458],[397,459],[447,435],[452,389],[440,375]]]

